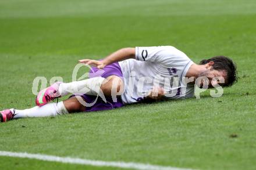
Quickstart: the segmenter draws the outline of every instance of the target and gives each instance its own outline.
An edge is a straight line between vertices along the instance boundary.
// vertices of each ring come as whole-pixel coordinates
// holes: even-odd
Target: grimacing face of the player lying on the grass
[[[208,88],[214,88],[215,85],[223,85],[223,83],[219,82],[218,78],[215,77],[223,77],[226,82],[226,71],[225,70],[215,70],[212,67],[208,67],[207,70],[202,71],[199,74],[199,77],[207,77],[209,80]],[[202,79],[200,87],[202,88],[204,84],[204,80]]]

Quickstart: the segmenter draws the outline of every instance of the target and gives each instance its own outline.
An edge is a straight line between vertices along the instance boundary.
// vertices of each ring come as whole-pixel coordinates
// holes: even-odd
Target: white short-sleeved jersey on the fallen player
[[[163,87],[169,99],[194,95],[194,85],[183,81],[193,62],[173,46],[136,47],[136,60],[119,64],[125,82],[124,104],[140,102],[154,86]]]

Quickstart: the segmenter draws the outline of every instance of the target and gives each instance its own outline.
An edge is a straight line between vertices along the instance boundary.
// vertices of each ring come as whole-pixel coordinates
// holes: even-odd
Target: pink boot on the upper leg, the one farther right
[[[59,84],[61,83],[62,82],[55,82],[55,84],[52,84],[48,88],[40,91],[35,99],[35,104],[37,104],[37,106],[44,106],[44,104],[61,97],[59,94]]]

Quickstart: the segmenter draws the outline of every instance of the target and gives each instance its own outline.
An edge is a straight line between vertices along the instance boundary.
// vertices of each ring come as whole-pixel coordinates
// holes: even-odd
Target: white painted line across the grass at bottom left
[[[134,163],[134,162],[96,161],[96,160],[86,160],[81,158],[57,157],[54,155],[16,153],[16,152],[10,152],[10,151],[0,151],[0,156],[29,158],[29,159],[35,159],[35,160],[62,162],[62,163],[69,163],[69,164],[91,165],[96,167],[118,167],[118,168],[132,168],[132,169],[143,169],[143,170],[152,170],[152,169],[154,170],[155,169],[189,170],[186,168],[163,167],[158,165],[140,164],[140,163]]]

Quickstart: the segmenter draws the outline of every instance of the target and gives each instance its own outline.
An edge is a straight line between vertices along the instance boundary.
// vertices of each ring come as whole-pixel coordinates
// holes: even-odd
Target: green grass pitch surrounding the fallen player
[[[0,109],[33,107],[33,79],[72,79],[79,59],[172,45],[194,62],[230,56],[239,82],[222,97],[0,124],[1,149],[193,169],[254,169],[256,2],[0,1]],[[236,134],[236,138],[230,135]],[[235,135],[234,135],[235,136]],[[0,169],[115,169],[0,157]]]

